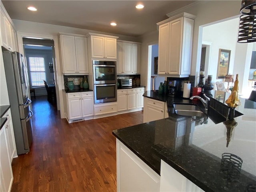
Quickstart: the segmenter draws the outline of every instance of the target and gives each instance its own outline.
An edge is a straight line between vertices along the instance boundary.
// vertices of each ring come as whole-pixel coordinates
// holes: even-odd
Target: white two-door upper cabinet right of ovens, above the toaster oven
[[[117,42],[117,74],[140,73],[140,43]]]

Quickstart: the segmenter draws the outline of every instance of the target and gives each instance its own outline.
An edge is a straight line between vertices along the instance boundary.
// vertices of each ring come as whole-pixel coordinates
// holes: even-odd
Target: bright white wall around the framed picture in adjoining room
[[[212,82],[224,82],[225,80],[217,79],[219,49],[231,50],[228,74],[233,74],[236,55],[236,42],[238,37],[238,25],[239,18],[235,18],[203,28],[202,40],[212,43],[210,65],[208,70],[209,75],[212,75]]]

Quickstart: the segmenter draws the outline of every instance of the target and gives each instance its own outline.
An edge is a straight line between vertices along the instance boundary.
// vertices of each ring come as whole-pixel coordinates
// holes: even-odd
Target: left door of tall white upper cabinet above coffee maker
[[[170,23],[159,26],[158,40],[158,74],[167,74],[167,64],[169,55],[169,33]]]

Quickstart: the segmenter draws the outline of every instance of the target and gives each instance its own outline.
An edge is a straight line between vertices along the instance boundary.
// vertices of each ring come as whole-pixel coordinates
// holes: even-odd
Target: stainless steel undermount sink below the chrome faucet
[[[178,115],[202,117],[205,114],[194,104],[173,104],[174,111]]]

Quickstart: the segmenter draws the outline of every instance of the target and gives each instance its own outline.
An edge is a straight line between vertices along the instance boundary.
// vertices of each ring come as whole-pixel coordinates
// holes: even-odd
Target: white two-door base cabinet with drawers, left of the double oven
[[[63,99],[64,112],[69,123],[93,118],[93,92],[63,91]]]

